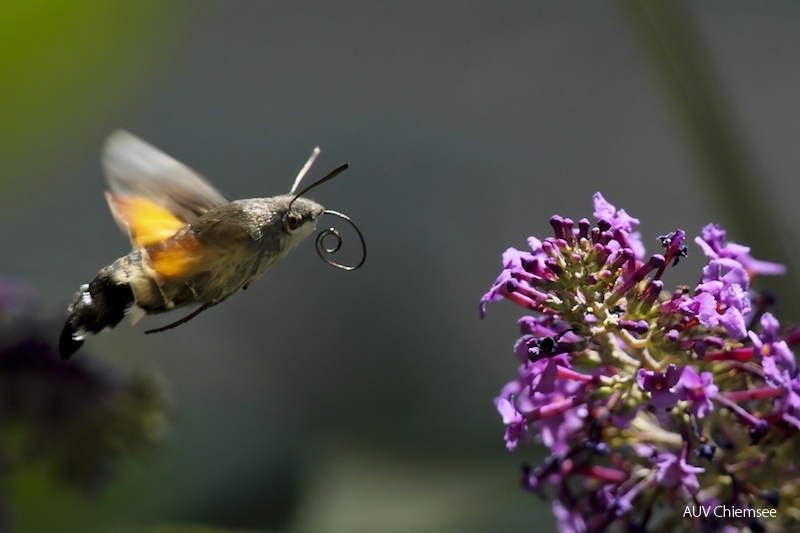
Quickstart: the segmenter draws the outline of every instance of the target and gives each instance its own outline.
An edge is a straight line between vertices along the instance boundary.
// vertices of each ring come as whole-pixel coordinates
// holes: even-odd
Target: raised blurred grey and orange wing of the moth
[[[108,205],[135,248],[160,242],[228,203],[192,169],[126,131],[109,136],[103,169]]]

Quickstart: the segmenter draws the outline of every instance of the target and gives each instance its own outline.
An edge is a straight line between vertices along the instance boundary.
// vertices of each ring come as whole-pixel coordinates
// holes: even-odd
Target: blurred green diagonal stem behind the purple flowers
[[[797,279],[800,259],[775,210],[763,193],[738,120],[702,44],[699,32],[678,1],[623,0],[632,26],[649,52],[665,95],[670,100],[695,152],[708,187],[732,240],[751,245],[755,255],[789,266]],[[791,294],[794,280],[770,283]],[[784,298],[785,314],[800,318],[800,300]]]

